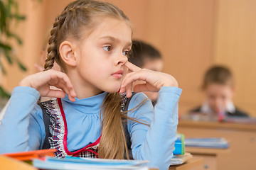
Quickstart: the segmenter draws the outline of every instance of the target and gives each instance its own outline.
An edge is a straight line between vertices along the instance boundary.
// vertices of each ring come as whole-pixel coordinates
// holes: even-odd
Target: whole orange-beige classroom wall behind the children
[[[109,0],[122,8],[134,26],[134,38],[150,42],[164,56],[164,72],[183,89],[180,114],[198,106],[203,73],[212,64],[232,69],[237,82],[235,104],[256,116],[256,1],[254,0]],[[36,72],[46,30],[70,0],[19,0],[27,18],[16,32],[23,38],[18,57],[28,67],[7,69],[1,84],[11,91],[23,77]]]

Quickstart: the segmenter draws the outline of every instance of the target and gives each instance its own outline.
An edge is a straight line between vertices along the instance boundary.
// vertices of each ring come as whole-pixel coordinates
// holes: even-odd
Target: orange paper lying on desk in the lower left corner
[[[4,154],[7,157],[12,157],[20,161],[29,161],[35,158],[41,158],[45,156],[54,157],[54,152],[56,149],[42,149],[42,150],[33,150],[28,152],[16,152],[11,154]]]

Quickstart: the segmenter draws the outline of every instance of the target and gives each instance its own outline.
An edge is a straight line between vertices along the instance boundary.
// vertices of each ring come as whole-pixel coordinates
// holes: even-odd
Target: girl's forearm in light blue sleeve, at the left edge
[[[39,98],[30,87],[16,87],[0,125],[0,154],[29,150],[29,115]]]

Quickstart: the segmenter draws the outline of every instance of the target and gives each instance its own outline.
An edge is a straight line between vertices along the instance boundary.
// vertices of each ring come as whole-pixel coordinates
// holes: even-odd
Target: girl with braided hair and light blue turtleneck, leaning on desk
[[[124,159],[130,148],[133,159],[168,169],[181,89],[171,75],[127,62],[131,46],[131,24],[119,8],[69,4],[53,23],[46,71],[14,88],[0,125],[0,153],[55,148],[56,157]],[[63,72],[51,69],[54,61]],[[144,94],[132,94],[137,80],[146,84],[135,92],[159,91],[155,108]],[[38,104],[39,96],[55,98]]]

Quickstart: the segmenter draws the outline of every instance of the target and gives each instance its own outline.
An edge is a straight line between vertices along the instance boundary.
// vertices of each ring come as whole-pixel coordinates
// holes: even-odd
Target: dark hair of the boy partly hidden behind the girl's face
[[[143,67],[146,60],[161,59],[161,53],[152,45],[142,40],[132,40],[132,50],[129,52],[129,62]]]

